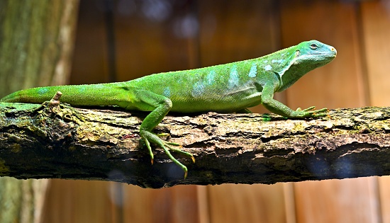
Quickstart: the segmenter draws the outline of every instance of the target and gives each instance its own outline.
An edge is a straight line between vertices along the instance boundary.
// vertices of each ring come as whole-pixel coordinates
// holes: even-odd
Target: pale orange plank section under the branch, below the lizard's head
[[[374,178],[295,183],[297,222],[379,222]]]

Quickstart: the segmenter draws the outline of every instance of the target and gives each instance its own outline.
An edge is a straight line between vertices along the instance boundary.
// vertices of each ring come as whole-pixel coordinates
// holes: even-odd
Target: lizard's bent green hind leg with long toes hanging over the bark
[[[169,159],[171,159],[174,164],[177,164],[177,166],[180,166],[183,169],[184,178],[186,178],[188,173],[186,166],[175,159],[169,150],[177,151],[178,153],[184,154],[185,156],[190,156],[192,161],[195,162],[194,156],[186,151],[172,147],[171,145],[179,146],[179,144],[166,142],[152,132],[152,130],[162,121],[165,115],[167,115],[169,110],[171,110],[172,101],[165,96],[152,93],[151,91],[135,90],[134,93],[135,101],[133,103],[136,107],[138,107],[140,110],[152,110],[152,112],[146,116],[140,126],[140,136],[145,141],[152,164],[153,152],[152,147],[150,147],[150,142],[164,149],[165,154],[167,154]]]

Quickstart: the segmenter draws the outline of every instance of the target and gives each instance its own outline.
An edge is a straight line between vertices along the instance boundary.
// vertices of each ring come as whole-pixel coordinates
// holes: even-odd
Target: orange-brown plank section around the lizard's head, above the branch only
[[[338,1],[282,4],[284,47],[316,39],[338,50],[333,62],[306,74],[287,89],[287,102],[291,107],[353,108],[367,105],[356,11],[355,4]]]

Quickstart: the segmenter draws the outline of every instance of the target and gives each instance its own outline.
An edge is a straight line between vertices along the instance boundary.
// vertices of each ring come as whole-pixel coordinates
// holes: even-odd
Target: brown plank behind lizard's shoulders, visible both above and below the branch
[[[206,67],[279,50],[272,1],[199,1],[200,65]],[[264,108],[251,109],[268,112]],[[210,222],[286,222],[284,190],[277,185],[208,186]]]

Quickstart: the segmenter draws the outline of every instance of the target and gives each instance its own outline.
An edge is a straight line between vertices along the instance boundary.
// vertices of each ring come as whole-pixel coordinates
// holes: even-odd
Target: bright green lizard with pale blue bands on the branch
[[[150,111],[140,125],[140,137],[145,141],[152,163],[150,143],[164,149],[169,159],[183,169],[185,178],[186,166],[170,151],[190,156],[192,161],[195,161],[194,156],[172,147],[178,144],[166,142],[152,133],[169,111],[248,113],[247,108],[261,103],[272,113],[286,118],[324,116],[328,113],[326,108],[313,110],[313,106],[291,110],[273,96],[274,92],[289,88],[307,72],[328,64],[336,54],[334,47],[311,40],[256,59],[152,74],[126,82],[30,88],[11,93],[0,101],[43,103],[61,91],[61,101],[70,105],[117,105],[126,110]]]

